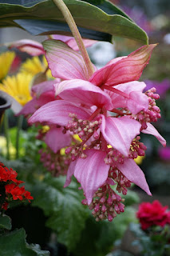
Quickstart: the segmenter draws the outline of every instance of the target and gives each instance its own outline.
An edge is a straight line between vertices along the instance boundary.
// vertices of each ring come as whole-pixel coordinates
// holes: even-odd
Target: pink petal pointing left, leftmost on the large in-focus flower
[[[59,126],[66,126],[71,120],[69,114],[77,114],[77,118],[88,119],[90,113],[88,110],[80,106],[73,105],[63,100],[56,100],[49,102],[40,107],[29,119],[29,123],[45,122],[47,124],[56,124]]]

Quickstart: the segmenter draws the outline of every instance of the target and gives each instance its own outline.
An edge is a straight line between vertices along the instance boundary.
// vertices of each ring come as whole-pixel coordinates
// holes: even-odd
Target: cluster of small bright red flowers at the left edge
[[[7,168],[0,162],[0,210],[7,210],[12,200],[26,201],[33,200],[29,191],[24,186],[19,186],[22,181],[17,179],[17,172]]]

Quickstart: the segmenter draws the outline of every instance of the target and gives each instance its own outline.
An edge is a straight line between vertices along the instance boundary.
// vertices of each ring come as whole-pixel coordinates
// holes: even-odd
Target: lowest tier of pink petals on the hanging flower
[[[109,158],[110,162],[107,162],[108,156],[110,157],[110,152],[112,152],[112,150],[108,150],[108,152],[102,150],[84,150],[83,153],[86,157],[77,158],[76,161],[70,164],[65,186],[69,186],[71,176],[74,175],[77,181],[81,183],[87,202],[90,205],[94,193],[105,184],[109,171],[111,171],[110,168],[114,163],[117,166],[117,170],[120,170],[121,174],[124,174],[130,182],[134,182],[145,190],[146,193],[151,195],[140,167],[137,166],[132,159],[128,158],[122,158],[121,163],[111,158]]]

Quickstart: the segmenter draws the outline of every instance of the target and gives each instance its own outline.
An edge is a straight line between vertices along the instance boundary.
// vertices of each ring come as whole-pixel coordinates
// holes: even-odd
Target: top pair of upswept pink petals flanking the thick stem
[[[124,82],[138,80],[144,67],[148,64],[152,50],[156,46],[142,46],[128,56],[115,58],[106,66],[94,72],[93,76],[89,78],[81,54],[75,53],[74,50],[61,41],[52,39],[46,40],[42,44],[49,69],[54,78],[65,80],[89,79],[96,86],[116,86]]]

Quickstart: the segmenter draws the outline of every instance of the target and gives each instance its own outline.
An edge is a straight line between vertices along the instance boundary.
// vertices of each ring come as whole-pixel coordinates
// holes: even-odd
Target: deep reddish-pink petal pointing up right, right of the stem
[[[116,86],[120,83],[138,80],[155,46],[156,44],[142,46],[128,57],[121,58],[118,62],[110,62],[109,65],[94,72],[89,81],[96,86]]]

